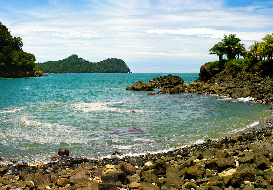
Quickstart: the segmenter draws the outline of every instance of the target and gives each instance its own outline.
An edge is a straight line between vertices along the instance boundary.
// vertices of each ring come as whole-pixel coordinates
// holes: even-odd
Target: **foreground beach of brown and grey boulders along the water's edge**
[[[158,154],[99,160],[69,157],[55,162],[9,163],[0,189],[273,189],[273,117],[217,141]]]

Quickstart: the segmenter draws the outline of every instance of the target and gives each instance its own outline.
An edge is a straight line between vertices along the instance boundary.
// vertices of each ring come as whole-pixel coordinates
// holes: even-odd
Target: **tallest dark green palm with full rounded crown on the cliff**
[[[236,38],[236,34],[230,34],[229,36],[224,35],[222,42],[227,60],[235,59],[236,54],[239,55],[242,51],[245,51],[244,44],[239,43],[241,40]]]

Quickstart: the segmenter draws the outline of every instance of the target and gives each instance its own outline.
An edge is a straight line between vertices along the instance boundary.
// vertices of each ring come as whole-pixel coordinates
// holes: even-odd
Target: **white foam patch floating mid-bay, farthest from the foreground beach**
[[[124,102],[91,102],[91,103],[76,103],[74,107],[77,110],[81,111],[120,111],[127,112],[126,110],[115,108],[115,107],[107,107],[108,104],[118,104]]]

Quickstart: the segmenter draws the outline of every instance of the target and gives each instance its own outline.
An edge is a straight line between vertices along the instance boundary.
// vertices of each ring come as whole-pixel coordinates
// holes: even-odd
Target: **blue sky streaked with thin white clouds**
[[[248,49],[273,32],[273,1],[0,0],[0,22],[36,62],[123,59],[133,73],[198,73],[236,34]]]

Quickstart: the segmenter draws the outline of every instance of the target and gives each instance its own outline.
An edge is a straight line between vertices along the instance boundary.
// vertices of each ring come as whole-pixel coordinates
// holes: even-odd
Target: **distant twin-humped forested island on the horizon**
[[[37,63],[43,73],[128,73],[130,69],[122,59],[108,58],[92,63],[77,55],[59,61]]]

